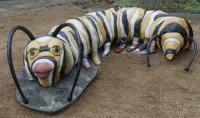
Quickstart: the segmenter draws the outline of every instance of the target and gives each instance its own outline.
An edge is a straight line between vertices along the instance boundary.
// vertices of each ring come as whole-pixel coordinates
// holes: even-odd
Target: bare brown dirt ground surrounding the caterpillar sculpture
[[[94,6],[93,6],[94,7]],[[102,7],[105,8],[104,5]],[[96,8],[96,7],[95,7]],[[15,85],[6,58],[7,35],[12,26],[26,26],[35,35],[43,35],[59,23],[85,14],[69,4],[0,12],[0,117],[1,118],[197,118],[200,116],[200,56],[190,72],[183,68],[191,51],[173,62],[161,52],[151,57],[152,67],[145,67],[145,56],[111,53],[102,60],[96,80],[69,108],[56,114],[44,114],[24,108],[15,100]],[[200,19],[191,19],[200,45]],[[14,41],[16,70],[21,70],[26,44],[23,33]],[[199,50],[198,50],[199,51]]]

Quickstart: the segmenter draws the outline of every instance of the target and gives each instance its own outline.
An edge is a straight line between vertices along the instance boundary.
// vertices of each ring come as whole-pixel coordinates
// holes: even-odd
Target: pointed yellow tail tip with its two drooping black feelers
[[[192,32],[192,30],[190,31]],[[193,38],[193,34],[191,33],[190,37],[186,38],[177,32],[170,32],[170,33],[165,33],[164,35],[155,35],[151,37],[151,40],[148,44],[148,53],[147,53],[147,60],[146,60],[146,66],[150,67],[150,57],[149,57],[149,50],[152,42],[154,40],[157,40],[158,46],[162,48],[165,57],[167,60],[173,60],[174,57],[180,53],[181,50],[187,49],[190,47],[191,44],[193,44],[193,53],[192,56],[188,62],[188,64],[185,66],[185,71],[189,71],[190,66],[192,62],[194,61],[194,58],[196,56],[197,52],[197,42]]]

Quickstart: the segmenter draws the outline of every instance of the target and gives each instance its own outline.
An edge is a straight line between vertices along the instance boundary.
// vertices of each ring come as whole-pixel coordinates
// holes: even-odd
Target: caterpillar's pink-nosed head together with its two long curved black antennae
[[[19,90],[21,90],[21,88],[17,81],[12,58],[12,41],[15,32],[17,30],[21,30],[31,40],[24,50],[24,66],[27,74],[29,75],[29,77],[31,77],[31,79],[39,80],[39,83],[42,86],[48,87],[51,86],[54,82],[60,80],[60,75],[65,72],[64,70],[66,68],[66,64],[63,63],[66,62],[66,50],[68,48],[62,39],[57,38],[57,34],[62,28],[66,26],[69,26],[73,29],[73,31],[75,32],[74,38],[78,44],[78,64],[75,75],[75,79],[77,79],[81,68],[80,65],[83,46],[81,44],[80,35],[77,29],[72,24],[63,23],[59,25],[50,35],[46,35],[40,38],[35,38],[34,35],[23,26],[15,26],[11,29],[8,35],[7,58],[12,77]],[[24,96],[22,92],[20,94]],[[24,101],[26,101],[25,97],[23,97],[23,99]]]

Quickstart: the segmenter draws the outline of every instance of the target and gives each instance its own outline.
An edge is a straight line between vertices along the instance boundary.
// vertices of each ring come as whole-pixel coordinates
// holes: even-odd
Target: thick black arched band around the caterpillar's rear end
[[[170,23],[160,32],[160,34],[163,35],[165,33],[171,33],[171,32],[177,32],[183,36],[184,43],[183,43],[183,47],[181,48],[183,49],[188,39],[186,30],[178,23]]]

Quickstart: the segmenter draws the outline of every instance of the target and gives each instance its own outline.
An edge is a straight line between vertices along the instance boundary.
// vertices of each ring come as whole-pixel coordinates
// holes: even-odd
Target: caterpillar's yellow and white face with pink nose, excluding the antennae
[[[37,38],[24,50],[24,66],[29,77],[38,79],[44,87],[60,80],[65,60],[64,41],[51,36]]]

